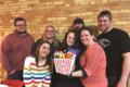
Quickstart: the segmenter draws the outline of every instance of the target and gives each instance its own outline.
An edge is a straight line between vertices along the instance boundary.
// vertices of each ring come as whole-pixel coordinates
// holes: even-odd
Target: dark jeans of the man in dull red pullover
[[[20,80],[23,80],[23,71],[16,71],[14,74],[8,74],[6,79],[20,79]]]

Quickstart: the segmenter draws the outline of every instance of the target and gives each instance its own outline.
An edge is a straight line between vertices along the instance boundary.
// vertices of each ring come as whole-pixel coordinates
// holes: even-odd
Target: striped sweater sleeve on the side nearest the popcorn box
[[[50,87],[51,78],[52,78],[52,72],[50,70],[48,70],[44,80],[42,82],[43,87]]]

